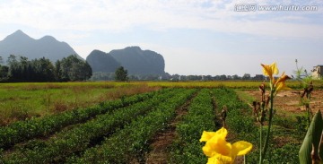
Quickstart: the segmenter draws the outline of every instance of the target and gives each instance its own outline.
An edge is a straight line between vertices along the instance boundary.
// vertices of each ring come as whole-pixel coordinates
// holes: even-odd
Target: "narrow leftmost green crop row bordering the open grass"
[[[57,115],[18,121],[0,128],[0,148],[6,149],[15,143],[35,137],[43,137],[62,129],[66,125],[81,123],[100,114],[116,108],[127,107],[144,99],[153,97],[156,92],[130,96],[118,100],[102,102],[91,108],[74,109]]]

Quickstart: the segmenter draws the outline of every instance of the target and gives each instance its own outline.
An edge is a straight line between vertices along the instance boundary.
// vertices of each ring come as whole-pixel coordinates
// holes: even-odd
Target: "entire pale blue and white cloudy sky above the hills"
[[[139,46],[170,74],[252,76],[276,62],[292,75],[323,65],[321,0],[0,0],[0,40],[50,35],[84,59]]]

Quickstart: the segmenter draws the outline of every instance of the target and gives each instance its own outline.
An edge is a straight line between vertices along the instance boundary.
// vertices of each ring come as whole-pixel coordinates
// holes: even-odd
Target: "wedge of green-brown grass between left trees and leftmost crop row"
[[[4,83],[0,84],[0,125],[160,88],[144,82]]]

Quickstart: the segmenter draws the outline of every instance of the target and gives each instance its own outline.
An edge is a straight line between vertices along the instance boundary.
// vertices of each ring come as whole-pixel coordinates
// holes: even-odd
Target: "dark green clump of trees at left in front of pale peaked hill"
[[[55,64],[45,57],[29,60],[10,55],[6,65],[0,56],[0,82],[70,82],[85,81],[91,76],[91,66],[75,55]]]

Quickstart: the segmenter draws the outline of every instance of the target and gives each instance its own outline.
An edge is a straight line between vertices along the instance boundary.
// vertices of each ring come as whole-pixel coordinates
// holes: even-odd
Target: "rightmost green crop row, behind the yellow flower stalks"
[[[228,114],[226,118],[226,125],[230,134],[234,135],[233,141],[240,140],[251,142],[253,150],[247,155],[248,163],[258,163],[258,144],[259,144],[259,127],[252,115],[252,109],[241,101],[236,92],[231,89],[215,89],[214,96],[219,107],[227,106]],[[301,147],[301,142],[295,142],[293,139],[295,135],[299,136],[297,130],[292,129],[292,125],[297,125],[296,119],[292,117],[284,117],[275,115],[270,136],[270,145],[268,148],[267,159],[265,163],[298,163],[298,151]],[[282,123],[283,122],[283,123]],[[284,127],[288,125],[288,128]],[[266,134],[266,125],[263,127],[263,134]],[[283,146],[277,146],[275,137],[278,139],[291,138],[292,142],[287,142]]]

